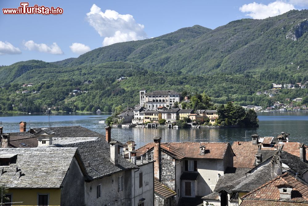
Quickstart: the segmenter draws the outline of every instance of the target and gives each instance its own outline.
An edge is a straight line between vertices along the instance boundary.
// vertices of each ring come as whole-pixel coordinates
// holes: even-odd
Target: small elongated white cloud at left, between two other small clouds
[[[45,52],[50,54],[63,54],[63,51],[58,46],[57,43],[53,43],[50,47],[47,46],[47,44],[40,43],[37,44],[32,40],[29,40],[27,42],[24,42],[23,45],[26,47],[26,49],[30,51],[39,51],[39,52]]]

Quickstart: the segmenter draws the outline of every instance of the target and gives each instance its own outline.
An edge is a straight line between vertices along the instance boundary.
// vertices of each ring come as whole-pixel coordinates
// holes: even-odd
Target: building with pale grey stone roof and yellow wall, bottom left
[[[0,148],[0,184],[12,205],[82,205],[84,172],[76,148]],[[73,188],[73,189],[72,189]]]

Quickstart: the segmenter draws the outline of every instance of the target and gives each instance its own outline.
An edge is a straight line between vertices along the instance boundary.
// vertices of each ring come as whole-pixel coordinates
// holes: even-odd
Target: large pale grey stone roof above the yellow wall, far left
[[[59,188],[77,148],[36,147],[0,148],[0,155],[16,155],[4,172],[0,184],[9,188]],[[16,172],[18,167],[18,172]],[[22,176],[19,177],[19,171]]]

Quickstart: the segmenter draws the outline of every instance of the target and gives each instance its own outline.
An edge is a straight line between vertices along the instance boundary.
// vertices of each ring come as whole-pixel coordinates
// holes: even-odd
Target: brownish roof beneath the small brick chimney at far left
[[[29,132],[10,133],[10,147],[37,147],[38,137]]]

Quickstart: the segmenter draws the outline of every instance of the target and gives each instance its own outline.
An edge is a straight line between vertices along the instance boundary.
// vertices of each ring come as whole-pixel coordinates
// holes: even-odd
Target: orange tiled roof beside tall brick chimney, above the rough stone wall
[[[137,156],[144,155],[154,147],[155,143],[150,142],[136,150]],[[205,155],[200,155],[200,145],[205,146]],[[184,158],[205,158],[223,159],[227,151],[228,142],[169,142],[161,143],[161,149],[174,159]],[[231,149],[231,148],[230,148]]]

